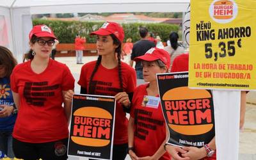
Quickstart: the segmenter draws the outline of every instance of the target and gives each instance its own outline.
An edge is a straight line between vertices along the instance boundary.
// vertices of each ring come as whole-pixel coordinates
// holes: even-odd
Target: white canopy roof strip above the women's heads
[[[182,12],[188,6],[188,3],[189,0],[1,0],[0,6],[7,8],[30,7],[31,14],[73,12]],[[102,8],[101,6],[105,7]],[[115,10],[112,10],[112,8],[115,8]]]

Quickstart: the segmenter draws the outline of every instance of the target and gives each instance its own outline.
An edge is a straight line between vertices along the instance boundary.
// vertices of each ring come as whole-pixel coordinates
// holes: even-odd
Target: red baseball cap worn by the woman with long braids
[[[124,30],[116,22],[104,22],[100,29],[93,31],[90,35],[107,36],[111,34],[115,35],[121,43],[123,42]]]

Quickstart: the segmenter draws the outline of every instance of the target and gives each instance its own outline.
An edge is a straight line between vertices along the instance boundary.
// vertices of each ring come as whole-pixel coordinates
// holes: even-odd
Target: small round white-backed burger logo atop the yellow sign
[[[228,23],[236,19],[238,12],[237,4],[232,0],[215,0],[211,3],[209,13],[212,19],[218,23]]]

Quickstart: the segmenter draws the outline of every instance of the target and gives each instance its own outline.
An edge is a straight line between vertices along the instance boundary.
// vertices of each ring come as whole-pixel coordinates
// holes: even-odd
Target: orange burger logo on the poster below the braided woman
[[[110,143],[113,117],[105,109],[84,107],[74,111],[74,130],[71,140],[90,147],[104,147]]]

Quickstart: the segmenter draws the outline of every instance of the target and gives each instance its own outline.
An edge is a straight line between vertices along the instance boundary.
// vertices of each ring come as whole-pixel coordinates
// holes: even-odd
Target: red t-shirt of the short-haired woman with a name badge
[[[134,152],[138,157],[153,156],[166,138],[166,124],[160,102],[158,108],[141,105],[144,95],[148,95],[147,87],[148,84],[138,86],[132,98]],[[167,152],[159,160],[166,159],[171,159]]]

